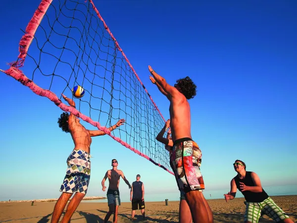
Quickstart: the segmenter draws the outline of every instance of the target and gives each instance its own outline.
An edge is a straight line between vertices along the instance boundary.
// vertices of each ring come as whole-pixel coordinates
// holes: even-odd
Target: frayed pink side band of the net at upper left
[[[43,19],[44,15],[46,14],[49,5],[52,0],[42,0],[39,4],[38,8],[36,9],[33,17],[31,18],[30,22],[26,27],[26,33],[23,35],[20,43],[19,43],[19,56],[18,60],[15,62],[9,63],[10,66],[14,67],[22,67],[24,66],[25,58],[27,56],[27,52],[29,49],[30,44],[34,38],[35,32]]]

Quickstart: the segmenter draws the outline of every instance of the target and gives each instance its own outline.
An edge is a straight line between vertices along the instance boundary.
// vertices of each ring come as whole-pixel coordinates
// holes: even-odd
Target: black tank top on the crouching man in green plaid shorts
[[[260,203],[268,198],[268,195],[262,188],[262,192],[251,192],[251,191],[241,191],[239,182],[246,184],[247,186],[255,186],[251,178],[251,172],[246,172],[246,177],[244,179],[240,179],[239,176],[234,177],[237,189],[242,192],[245,196],[247,202],[255,202]]]

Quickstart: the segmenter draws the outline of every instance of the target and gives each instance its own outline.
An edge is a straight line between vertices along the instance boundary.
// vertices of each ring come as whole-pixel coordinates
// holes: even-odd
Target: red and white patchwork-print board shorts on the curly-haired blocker
[[[187,193],[205,189],[200,172],[201,158],[201,150],[191,138],[182,138],[174,142],[170,166],[180,191]]]

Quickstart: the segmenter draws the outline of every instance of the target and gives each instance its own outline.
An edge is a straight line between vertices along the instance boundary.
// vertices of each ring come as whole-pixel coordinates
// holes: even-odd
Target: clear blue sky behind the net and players
[[[148,65],[169,84],[187,75],[197,84],[189,102],[206,193],[229,190],[236,159],[264,189],[297,184],[297,1],[94,2],[166,119],[169,102],[150,83]],[[38,3],[1,1],[1,69],[15,61],[20,29]],[[58,197],[73,149],[56,123],[61,110],[3,73],[0,83],[0,200]],[[91,154],[88,196],[105,196],[100,182],[115,158],[131,183],[141,174],[147,200],[178,199],[174,176],[109,136],[93,138]],[[128,201],[122,180],[120,193]]]

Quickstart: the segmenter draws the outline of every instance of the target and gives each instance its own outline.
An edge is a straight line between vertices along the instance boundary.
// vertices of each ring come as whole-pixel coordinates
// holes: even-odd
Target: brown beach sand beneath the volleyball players
[[[271,196],[271,198],[297,222],[297,195]],[[215,223],[243,222],[244,198],[236,198],[228,203],[224,199],[207,200],[213,212]],[[6,202],[0,203],[0,222],[8,223],[49,223],[55,202]],[[178,201],[146,202],[147,220],[143,221],[139,210],[135,222],[176,223],[178,222]],[[102,223],[108,211],[107,203],[84,202],[79,205],[72,216],[71,223]],[[119,207],[118,223],[131,223],[131,203],[123,202]],[[109,219],[112,222],[112,216]],[[259,223],[271,223],[267,216],[260,218]]]

